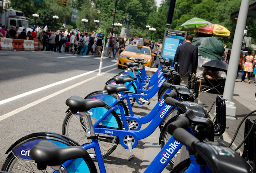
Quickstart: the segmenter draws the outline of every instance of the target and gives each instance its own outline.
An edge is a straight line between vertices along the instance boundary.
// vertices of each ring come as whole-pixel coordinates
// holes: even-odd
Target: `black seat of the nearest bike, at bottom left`
[[[48,166],[62,165],[70,159],[88,157],[87,151],[80,146],[58,147],[48,140],[36,143],[29,154],[37,163]]]

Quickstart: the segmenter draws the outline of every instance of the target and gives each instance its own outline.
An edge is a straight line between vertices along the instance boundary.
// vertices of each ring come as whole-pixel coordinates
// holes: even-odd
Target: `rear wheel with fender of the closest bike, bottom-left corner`
[[[36,136],[36,134],[38,134],[38,135]],[[44,134],[46,134],[46,133],[44,133]],[[11,153],[6,157],[6,160],[4,161],[4,164],[2,165],[1,170],[2,171],[7,171],[7,172],[12,172],[12,173],[23,173],[23,172],[24,173],[42,173],[42,172],[48,172],[48,171],[52,172],[52,171],[54,171],[49,166],[47,166],[46,169],[44,169],[44,170],[38,170],[35,161],[32,160],[30,157],[29,157],[30,159],[20,158],[19,155],[17,153],[15,153],[15,149],[17,147],[19,147],[20,145],[22,145],[22,144],[28,144],[29,142],[33,142],[33,141],[37,142],[39,140],[50,140],[50,141],[54,142],[55,144],[60,144],[60,146],[79,146],[79,144],[77,144],[73,140],[68,139],[66,137],[65,138],[67,140],[69,140],[70,142],[64,142],[63,140],[52,137],[52,136],[47,137],[47,135],[44,135],[44,134],[42,134],[42,132],[35,133],[33,137],[24,140],[24,138],[27,138],[28,136],[33,135],[33,134],[30,134],[28,136],[25,136],[25,137],[21,138],[16,143],[14,143],[14,144],[17,144],[17,143],[18,144],[15,145],[14,148],[9,149],[9,151],[11,151]],[[50,134],[50,133],[48,133],[48,134]],[[52,133],[52,134],[54,134],[54,133]],[[62,136],[60,134],[57,134],[57,135]],[[64,137],[62,137],[62,139],[63,138]],[[14,146],[14,145],[12,145],[12,146]],[[8,153],[8,151],[6,153]],[[78,161],[78,162],[76,162],[75,160]],[[97,172],[97,169],[96,169],[95,164],[94,164],[91,157],[78,158],[78,159],[74,159],[73,161],[74,162],[71,163],[72,168],[74,167],[75,163],[79,163],[80,166],[81,166],[81,164],[83,164],[83,166],[85,166],[84,168],[85,168],[85,170],[87,170],[86,172],[90,172],[90,173]],[[86,165],[84,165],[84,164],[86,164]],[[71,167],[70,168],[66,167],[68,173],[76,172],[74,170],[71,170],[72,168]],[[78,172],[79,171],[77,171],[76,173],[78,173]]]

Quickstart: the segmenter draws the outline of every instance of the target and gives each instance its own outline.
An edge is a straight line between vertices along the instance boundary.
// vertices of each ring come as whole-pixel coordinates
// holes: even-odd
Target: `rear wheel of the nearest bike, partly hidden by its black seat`
[[[39,133],[38,133],[39,134]],[[26,137],[24,137],[26,138]],[[66,138],[66,137],[65,137]],[[67,147],[67,146],[75,146],[78,144],[75,144],[76,142],[72,142],[70,140],[70,143],[63,142],[63,140],[58,140],[57,138],[54,138],[52,136],[44,136],[39,134],[38,136],[33,136],[30,139],[25,139],[22,141],[22,139],[18,140],[19,144],[17,144],[10,152],[10,154],[7,156],[6,160],[4,161],[4,164],[2,165],[2,171],[12,172],[12,173],[42,173],[42,172],[54,172],[54,169],[47,166],[44,170],[38,170],[37,164],[34,160],[32,160],[29,156],[26,156],[26,158],[21,158],[20,152],[17,152],[18,147],[29,147],[27,149],[24,149],[23,154],[26,155],[25,151],[29,151],[31,146],[31,143],[36,144],[40,140],[50,140],[51,142],[54,142],[54,144],[61,146],[61,147]],[[21,141],[21,142],[20,142]],[[19,151],[19,149],[18,149]],[[84,172],[90,172],[94,173],[97,171],[94,162],[92,161],[92,158],[90,157],[84,157],[84,158],[78,158],[74,159],[69,165],[66,166],[68,173],[79,173],[79,170],[74,170],[74,167],[80,167],[84,170]]]

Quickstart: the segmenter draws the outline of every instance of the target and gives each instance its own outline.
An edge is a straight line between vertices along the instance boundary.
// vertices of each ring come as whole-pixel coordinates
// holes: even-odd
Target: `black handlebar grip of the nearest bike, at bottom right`
[[[169,132],[169,131],[168,131]],[[194,150],[194,144],[200,142],[196,137],[186,131],[184,128],[177,128],[173,132],[173,137],[176,141]]]

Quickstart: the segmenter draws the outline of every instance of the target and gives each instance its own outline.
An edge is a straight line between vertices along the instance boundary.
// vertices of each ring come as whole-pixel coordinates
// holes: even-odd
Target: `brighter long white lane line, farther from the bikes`
[[[106,66],[106,67],[102,67],[102,69],[106,69],[106,68],[108,68],[108,67],[112,67],[112,66],[115,66],[115,65],[117,65],[117,64],[115,63],[115,64],[113,64],[113,65],[109,65],[109,66]],[[56,85],[59,85],[59,84],[62,84],[62,83],[71,81],[71,80],[73,80],[73,79],[76,79],[76,78],[79,78],[79,77],[88,75],[88,74],[93,73],[93,72],[96,72],[96,71],[99,71],[99,69],[95,69],[95,70],[93,70],[93,71],[88,71],[88,72],[86,72],[86,73],[84,73],[84,74],[77,75],[77,76],[71,77],[71,78],[69,78],[69,79],[65,79],[65,80],[63,80],[63,81],[59,81],[59,82],[56,82],[56,83],[53,83],[53,84],[50,84],[50,85],[47,85],[47,86],[43,86],[43,87],[41,87],[41,88],[37,88],[37,89],[35,89],[35,90],[28,91],[28,92],[25,92],[25,93],[23,93],[23,94],[20,94],[20,95],[11,97],[11,98],[7,98],[7,99],[5,99],[5,100],[0,101],[0,105],[1,105],[1,104],[4,104],[4,103],[7,103],[7,102],[10,102],[10,101],[13,101],[13,100],[16,100],[16,99],[18,99],[18,98],[22,98],[22,97],[27,96],[27,95],[29,95],[29,94],[33,94],[33,93],[35,93],[35,92],[39,92],[39,91],[44,90],[44,89],[46,89],[46,88],[50,88],[50,87],[52,87],[52,86],[56,86]]]

